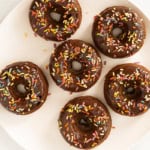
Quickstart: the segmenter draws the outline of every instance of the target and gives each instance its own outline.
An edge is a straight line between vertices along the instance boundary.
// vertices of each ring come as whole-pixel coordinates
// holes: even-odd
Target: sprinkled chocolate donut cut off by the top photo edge
[[[29,19],[39,36],[64,41],[79,28],[82,12],[78,0],[34,0]]]

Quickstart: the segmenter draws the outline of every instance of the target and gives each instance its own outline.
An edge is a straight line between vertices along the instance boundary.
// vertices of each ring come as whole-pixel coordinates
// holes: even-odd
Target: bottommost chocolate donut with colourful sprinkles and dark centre
[[[80,149],[90,149],[101,144],[112,127],[107,108],[91,96],[69,101],[61,111],[58,124],[64,139]]]

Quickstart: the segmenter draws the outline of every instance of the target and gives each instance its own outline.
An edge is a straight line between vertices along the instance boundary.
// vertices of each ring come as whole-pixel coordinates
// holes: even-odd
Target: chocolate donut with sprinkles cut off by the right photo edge
[[[106,75],[104,95],[117,113],[137,116],[150,107],[150,71],[137,64],[114,67]]]

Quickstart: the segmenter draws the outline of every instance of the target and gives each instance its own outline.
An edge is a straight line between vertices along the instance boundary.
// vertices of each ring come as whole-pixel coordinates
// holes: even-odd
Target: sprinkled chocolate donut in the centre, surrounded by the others
[[[74,68],[74,62],[79,63],[81,68]],[[102,63],[92,45],[81,40],[68,40],[55,49],[49,68],[58,86],[71,92],[80,92],[96,83]]]

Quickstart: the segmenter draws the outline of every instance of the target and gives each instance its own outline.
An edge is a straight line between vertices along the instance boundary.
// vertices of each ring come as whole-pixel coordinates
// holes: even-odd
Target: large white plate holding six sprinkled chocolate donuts
[[[55,85],[49,75],[49,71],[45,68],[49,63],[55,42],[45,41],[40,37],[34,36],[28,19],[31,1],[23,0],[1,24],[0,69],[15,61],[33,61],[45,72],[50,85],[49,92],[52,95],[48,96],[47,101],[38,111],[28,116],[14,115],[0,106],[0,125],[24,149],[74,150],[74,147],[65,142],[57,126],[57,119],[61,108],[70,99],[81,95],[95,96],[106,104],[103,96],[104,77],[108,70],[117,64],[141,62],[141,64],[150,68],[150,22],[141,13],[146,24],[147,38],[144,46],[138,53],[130,58],[118,60],[102,55],[102,59],[107,61],[107,65],[103,67],[100,80],[88,91],[71,95]],[[72,38],[82,39],[90,43],[93,43],[91,37],[93,18],[106,7],[125,5],[139,11],[138,8],[127,0],[79,0],[79,2],[82,7],[83,19],[80,28]],[[95,150],[127,150],[150,130],[150,111],[142,116],[129,118],[116,114],[110,108],[109,110],[115,129],[112,129],[108,139],[102,145],[96,147]]]

